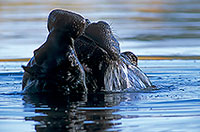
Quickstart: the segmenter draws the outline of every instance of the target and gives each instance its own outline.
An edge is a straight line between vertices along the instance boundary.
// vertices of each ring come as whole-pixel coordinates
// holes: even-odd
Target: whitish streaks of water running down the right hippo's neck
[[[104,84],[105,91],[112,92],[121,92],[127,88],[139,91],[152,86],[142,70],[123,57],[109,65],[105,72]]]

